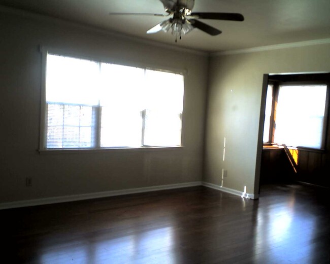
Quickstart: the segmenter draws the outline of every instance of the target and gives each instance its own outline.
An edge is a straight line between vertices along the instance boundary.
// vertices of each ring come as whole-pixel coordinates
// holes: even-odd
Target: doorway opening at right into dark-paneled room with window
[[[259,190],[292,182],[330,187],[329,84],[329,73],[264,75]]]

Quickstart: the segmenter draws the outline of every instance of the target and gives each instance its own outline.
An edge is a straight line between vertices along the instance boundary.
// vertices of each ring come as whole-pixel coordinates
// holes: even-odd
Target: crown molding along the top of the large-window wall
[[[127,40],[127,41],[133,41],[133,42],[140,43],[140,44],[151,45],[151,46],[159,47],[162,49],[186,52],[186,53],[201,55],[201,56],[209,56],[209,52],[195,50],[195,49],[189,49],[189,48],[185,48],[185,47],[178,47],[178,46],[174,46],[173,44],[165,44],[165,43],[160,43],[157,41],[146,40],[146,39],[143,39],[140,37],[130,36],[130,35],[126,35],[126,34],[123,34],[120,32],[107,30],[105,28],[87,25],[87,24],[83,24],[83,23],[78,23],[78,22],[74,22],[74,21],[70,21],[70,20],[60,19],[57,17],[47,16],[47,15],[43,15],[43,14],[38,14],[38,13],[34,13],[34,12],[22,10],[22,9],[15,9],[15,8],[0,5],[0,13],[25,17],[25,18],[29,18],[31,20],[42,22],[42,23],[54,23],[55,22],[57,25],[60,25],[60,26],[64,26],[64,27],[71,26],[71,27],[75,27],[77,29],[87,30],[87,31],[94,32],[94,33],[96,32],[97,34],[120,38],[122,40]]]

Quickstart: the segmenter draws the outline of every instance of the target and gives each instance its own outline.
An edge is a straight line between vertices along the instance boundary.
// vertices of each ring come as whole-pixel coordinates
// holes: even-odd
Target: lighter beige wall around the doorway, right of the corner
[[[214,56],[210,61],[204,181],[258,193],[263,74],[330,71],[330,44]],[[226,138],[225,160],[223,141]],[[256,186],[254,186],[256,176]]]

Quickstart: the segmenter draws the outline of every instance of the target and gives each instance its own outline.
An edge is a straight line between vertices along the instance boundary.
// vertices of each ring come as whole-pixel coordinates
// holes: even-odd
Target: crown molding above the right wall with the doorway
[[[287,48],[298,48],[298,47],[306,47],[306,46],[314,46],[314,45],[322,45],[322,44],[330,44],[330,39],[283,43],[283,44],[261,46],[261,47],[247,48],[247,49],[225,50],[225,51],[219,51],[219,52],[212,52],[212,53],[210,53],[210,56],[217,57],[217,56],[223,56],[223,55],[235,55],[235,54],[269,51],[269,50],[277,50],[277,49],[287,49]]]

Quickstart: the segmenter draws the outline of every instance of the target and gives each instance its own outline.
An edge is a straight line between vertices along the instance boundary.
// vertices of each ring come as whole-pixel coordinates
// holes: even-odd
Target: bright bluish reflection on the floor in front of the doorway
[[[316,218],[310,213],[310,208],[296,203],[296,195],[293,189],[284,201],[258,208],[255,262],[312,263],[309,261],[312,261],[311,256],[315,250],[313,239],[317,228]],[[267,203],[261,200],[263,202]]]

